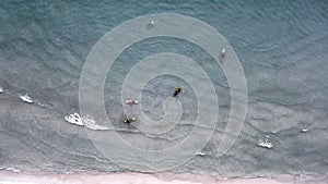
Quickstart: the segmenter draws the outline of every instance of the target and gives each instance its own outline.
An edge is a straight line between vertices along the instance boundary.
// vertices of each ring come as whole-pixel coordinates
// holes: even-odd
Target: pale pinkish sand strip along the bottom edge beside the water
[[[195,174],[144,174],[144,173],[108,173],[108,174],[46,174],[33,175],[0,172],[0,184],[291,184],[272,179],[231,179],[219,180],[212,176]]]

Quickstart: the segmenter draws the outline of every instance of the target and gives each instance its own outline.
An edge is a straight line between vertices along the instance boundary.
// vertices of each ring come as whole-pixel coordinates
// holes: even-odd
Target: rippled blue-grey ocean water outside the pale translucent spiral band
[[[201,154],[169,172],[221,179],[286,174],[305,183],[327,181],[327,11],[324,0],[1,1],[0,168],[26,173],[130,171],[106,158],[84,127],[68,123],[65,115],[79,112],[83,64],[107,32],[138,16],[177,13],[215,28],[241,61],[248,101],[237,140],[225,155],[218,152],[231,110],[230,86],[220,65],[194,44],[169,37],[137,42],[113,64],[116,72],[107,75],[104,87],[106,112],[114,124],[110,131],[130,144],[138,139],[145,149],[156,149],[151,144],[155,140],[169,147],[190,134],[197,95],[172,75],[150,81],[141,103],[145,114],[160,120],[164,115],[161,101],[183,85],[186,94],[178,126],[167,134],[148,135],[121,123],[120,91],[129,70],[148,56],[180,53],[198,61],[213,81],[220,113]],[[33,103],[20,99],[25,94]],[[139,159],[129,161],[138,164]]]

